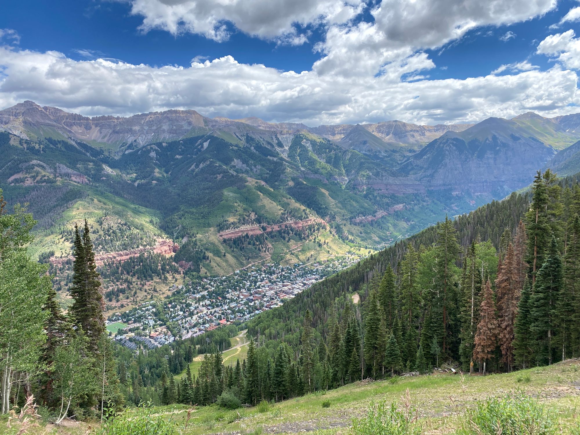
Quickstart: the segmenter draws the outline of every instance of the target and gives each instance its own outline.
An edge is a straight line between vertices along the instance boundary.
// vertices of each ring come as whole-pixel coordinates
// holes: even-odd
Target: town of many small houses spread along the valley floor
[[[115,313],[109,321],[128,327],[115,339],[130,349],[149,349],[190,338],[222,325],[242,323],[253,316],[282,305],[315,282],[350,266],[359,256],[343,256],[332,261],[293,266],[266,264],[238,270],[229,276],[208,277],[187,285],[174,285],[172,295],[162,301]]]

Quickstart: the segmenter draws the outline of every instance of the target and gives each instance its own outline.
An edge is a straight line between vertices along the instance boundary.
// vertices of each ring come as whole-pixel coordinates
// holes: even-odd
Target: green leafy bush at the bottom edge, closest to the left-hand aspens
[[[151,408],[126,409],[107,419],[101,435],[177,435],[176,422],[166,415],[155,415]]]

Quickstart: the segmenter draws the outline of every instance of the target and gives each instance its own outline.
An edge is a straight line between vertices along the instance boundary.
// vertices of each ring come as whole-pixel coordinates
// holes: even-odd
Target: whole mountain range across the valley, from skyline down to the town
[[[580,114],[309,127],[194,110],[89,118],[26,101],[0,110],[0,131],[0,187],[34,204],[31,251],[64,287],[82,218],[113,286],[115,258],[131,252],[175,253],[184,276],[314,262],[503,198],[537,169],[580,171]],[[160,270],[139,291],[168,287]]]

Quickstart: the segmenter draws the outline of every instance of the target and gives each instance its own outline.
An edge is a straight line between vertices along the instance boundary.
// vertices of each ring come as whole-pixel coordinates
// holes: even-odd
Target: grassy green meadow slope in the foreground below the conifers
[[[383,400],[402,404],[407,389],[425,434],[452,434],[461,425],[465,410],[477,401],[518,391],[537,398],[550,409],[559,419],[559,433],[580,433],[580,360],[485,377],[434,374],[362,381],[273,404],[266,410],[262,408],[262,412],[258,407],[235,411],[217,405],[198,407],[191,412],[187,427],[184,405],[156,408],[154,414],[177,420],[183,435],[342,434],[350,432],[352,419],[363,416],[369,404]],[[330,401],[330,407],[323,408],[324,401]],[[58,429],[49,425],[49,429],[49,433],[73,435],[85,433],[87,426],[70,422]]]

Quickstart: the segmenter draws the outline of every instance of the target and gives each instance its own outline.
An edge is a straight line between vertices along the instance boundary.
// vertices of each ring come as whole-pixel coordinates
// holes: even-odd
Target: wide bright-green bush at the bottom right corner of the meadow
[[[460,435],[550,435],[558,429],[546,409],[522,393],[480,402],[464,421]]]

